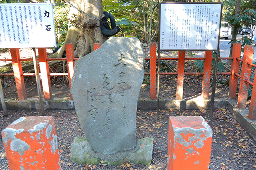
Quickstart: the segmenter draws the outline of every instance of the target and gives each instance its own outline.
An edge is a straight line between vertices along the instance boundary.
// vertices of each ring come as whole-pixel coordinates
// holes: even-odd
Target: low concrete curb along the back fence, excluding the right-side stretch
[[[38,98],[28,98],[27,100],[6,99],[7,110],[40,110],[40,102]],[[159,101],[160,109],[209,109],[210,100],[202,100],[201,97],[187,100],[163,100]],[[53,98],[52,100],[44,100],[44,109],[75,109],[74,102],[70,98]],[[227,100],[214,100],[214,108],[220,108],[228,104]],[[2,105],[0,105],[2,109]],[[138,109],[157,109],[156,100],[138,101]]]

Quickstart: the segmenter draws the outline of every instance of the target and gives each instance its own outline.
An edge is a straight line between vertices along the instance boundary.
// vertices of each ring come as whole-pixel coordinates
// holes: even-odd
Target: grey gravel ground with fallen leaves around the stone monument
[[[152,163],[150,166],[124,164],[109,166],[102,162],[100,165],[81,165],[70,161],[70,145],[76,136],[84,136],[77,119],[75,110],[46,111],[46,116],[53,116],[58,135],[58,148],[62,170],[166,170],[168,117],[201,115],[206,121],[209,110],[161,110],[160,118],[156,121],[156,111],[138,110],[137,139],[154,137]],[[13,121],[22,116],[37,116],[39,111],[8,111],[8,117],[0,117],[2,131]],[[256,143],[234,120],[227,108],[214,111],[214,120],[208,121],[213,130],[210,170],[253,170],[256,169]],[[127,167],[127,165],[129,167]],[[0,169],[8,170],[6,153],[2,138],[0,139]]]

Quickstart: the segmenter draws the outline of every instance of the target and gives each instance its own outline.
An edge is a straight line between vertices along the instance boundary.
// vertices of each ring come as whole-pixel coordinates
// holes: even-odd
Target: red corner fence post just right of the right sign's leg
[[[237,80],[238,77],[235,76],[235,72],[238,73],[239,71],[239,61],[236,58],[240,58],[241,55],[241,43],[233,43],[233,50],[232,50],[232,64],[231,64],[231,76],[229,80],[229,91],[228,97],[229,99],[236,98],[236,88],[237,88]]]

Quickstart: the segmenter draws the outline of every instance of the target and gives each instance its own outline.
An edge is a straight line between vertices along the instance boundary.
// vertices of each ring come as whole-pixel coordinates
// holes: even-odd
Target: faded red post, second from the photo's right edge
[[[249,66],[247,63],[252,63],[253,58],[253,45],[245,45],[244,47],[244,58],[243,58],[243,65],[242,65],[242,73],[241,73],[241,80],[240,80],[240,90],[238,94],[238,108],[244,109],[246,107],[247,95],[248,95],[248,87],[249,84],[245,82],[245,80],[250,80],[251,69],[252,66]]]

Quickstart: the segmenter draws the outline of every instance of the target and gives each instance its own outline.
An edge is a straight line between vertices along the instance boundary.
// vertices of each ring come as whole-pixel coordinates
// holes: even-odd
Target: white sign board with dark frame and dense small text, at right
[[[220,3],[160,3],[160,50],[217,50]]]

